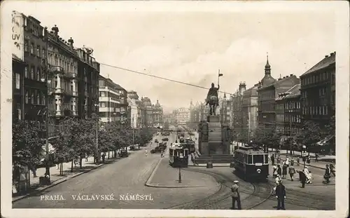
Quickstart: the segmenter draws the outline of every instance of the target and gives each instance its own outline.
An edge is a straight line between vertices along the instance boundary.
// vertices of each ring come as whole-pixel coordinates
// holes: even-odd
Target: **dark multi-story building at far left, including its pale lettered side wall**
[[[47,28],[41,26],[41,22],[31,16],[13,11],[13,54],[19,60],[25,62],[24,96],[25,102],[23,118],[25,120],[44,123],[46,102],[48,93],[46,88],[45,73],[47,71]],[[44,125],[43,126],[43,133]],[[44,136],[44,135],[42,135]]]

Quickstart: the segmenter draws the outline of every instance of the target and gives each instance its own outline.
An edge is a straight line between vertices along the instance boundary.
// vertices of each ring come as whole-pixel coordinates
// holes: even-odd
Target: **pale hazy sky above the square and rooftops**
[[[107,10],[108,9],[108,10]],[[98,62],[235,93],[264,76],[267,52],[272,76],[300,76],[324,55],[335,51],[332,11],[302,12],[150,12],[113,10],[104,4],[17,4],[13,10],[32,15],[74,46],[94,49]],[[207,90],[101,67],[102,76],[139,96],[160,101],[165,110],[202,101]]]

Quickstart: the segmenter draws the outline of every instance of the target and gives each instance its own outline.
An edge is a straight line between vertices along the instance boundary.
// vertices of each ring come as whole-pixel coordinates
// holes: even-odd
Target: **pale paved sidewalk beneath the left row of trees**
[[[110,151],[110,159],[108,159],[108,152],[106,152],[106,159],[105,163],[109,163],[111,161],[115,161],[117,158],[113,157],[113,152]],[[63,175],[59,175],[59,168],[57,168],[57,165],[52,166],[50,168],[50,182],[51,184],[49,186],[40,186],[39,185],[39,177],[43,176],[45,174],[45,168],[38,168],[36,170],[36,177],[33,176],[33,173],[30,171],[30,188],[27,193],[24,193],[22,195],[19,195],[17,193],[13,193],[12,202],[15,202],[17,200],[20,200],[22,198],[26,198],[27,196],[30,196],[36,191],[43,191],[45,189],[50,188],[51,186],[55,186],[59,183],[65,182],[67,179],[71,179],[73,177],[76,177],[78,175],[81,175],[85,172],[89,172],[91,170],[94,170],[95,168],[99,168],[100,166],[104,165],[102,161],[97,165],[94,163],[94,157],[88,157],[87,161],[85,158],[82,160],[82,168],[80,168],[79,163],[77,165],[73,164],[73,172],[71,172],[71,161],[67,163],[63,163]]]

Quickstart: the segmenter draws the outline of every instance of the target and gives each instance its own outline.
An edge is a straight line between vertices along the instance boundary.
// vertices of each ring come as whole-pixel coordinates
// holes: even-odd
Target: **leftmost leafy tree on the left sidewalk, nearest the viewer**
[[[39,137],[41,129],[35,121],[18,121],[12,128],[12,161],[15,167],[26,165],[36,168],[45,141]]]

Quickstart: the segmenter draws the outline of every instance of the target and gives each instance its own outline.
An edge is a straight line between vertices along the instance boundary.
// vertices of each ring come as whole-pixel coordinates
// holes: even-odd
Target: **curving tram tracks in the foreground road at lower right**
[[[211,195],[205,198],[192,200],[188,203],[174,205],[167,209],[230,210],[230,207],[232,206],[232,200],[231,200],[232,193],[231,193],[230,187],[233,184],[231,177],[228,177],[228,175],[223,175],[223,173],[221,172],[200,170],[197,168],[185,168],[183,170],[187,170],[190,172],[200,172],[206,175],[210,175],[211,177],[214,177],[214,179],[216,179],[218,184],[220,184],[220,188],[218,189],[218,191],[216,191],[215,193],[212,193]],[[248,194],[246,198],[241,198],[241,201],[244,201],[244,203],[246,204],[242,209],[244,210],[265,209],[266,206],[264,206],[265,205],[264,203],[266,203],[268,200],[272,200],[275,202],[274,204],[276,204],[276,198],[272,196],[273,188],[274,186],[269,182],[263,182],[263,183],[252,182],[252,183],[249,183],[249,185],[240,184],[239,191],[241,193]],[[324,203],[324,199],[325,199],[324,196],[317,195],[314,193],[303,193],[300,191],[287,189],[286,203],[288,203],[289,205],[309,207],[310,209],[314,209],[314,210],[325,210],[325,207],[329,207],[329,209],[327,210],[334,210],[330,206],[331,206],[331,203],[335,205],[335,200],[334,201],[330,200],[327,203],[325,203],[325,205],[322,205],[322,203]],[[315,205],[315,203],[321,203],[322,207]]]

